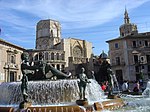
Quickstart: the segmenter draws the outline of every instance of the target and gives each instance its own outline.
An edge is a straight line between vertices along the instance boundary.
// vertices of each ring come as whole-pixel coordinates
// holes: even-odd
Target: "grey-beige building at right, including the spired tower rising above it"
[[[130,23],[127,10],[120,36],[106,41],[109,58],[118,81],[135,81],[150,77],[150,32],[138,33],[137,26]]]

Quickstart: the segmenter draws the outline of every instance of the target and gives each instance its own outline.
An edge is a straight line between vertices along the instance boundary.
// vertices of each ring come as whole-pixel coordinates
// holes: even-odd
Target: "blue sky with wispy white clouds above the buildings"
[[[62,38],[92,42],[93,53],[108,52],[107,40],[119,36],[125,7],[139,32],[150,31],[150,0],[0,0],[0,38],[35,48],[35,28],[42,19],[61,23]]]

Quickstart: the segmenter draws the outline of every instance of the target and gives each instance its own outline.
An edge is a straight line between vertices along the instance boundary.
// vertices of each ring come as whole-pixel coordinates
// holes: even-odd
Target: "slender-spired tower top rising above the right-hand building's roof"
[[[130,18],[127,10],[124,13],[124,24],[120,26],[120,37],[125,37],[127,35],[134,35],[138,33],[137,25],[130,23]]]

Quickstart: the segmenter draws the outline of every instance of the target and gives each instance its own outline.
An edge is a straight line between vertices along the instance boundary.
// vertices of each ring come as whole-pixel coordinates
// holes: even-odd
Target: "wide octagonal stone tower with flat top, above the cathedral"
[[[41,20],[36,26],[36,49],[53,49],[61,41],[60,23],[55,20]]]

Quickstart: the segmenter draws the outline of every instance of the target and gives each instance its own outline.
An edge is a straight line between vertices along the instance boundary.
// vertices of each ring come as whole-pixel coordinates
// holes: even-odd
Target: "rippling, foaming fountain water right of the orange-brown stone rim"
[[[142,95],[126,95],[122,97],[126,106],[115,112],[149,112],[150,111],[150,81]]]

